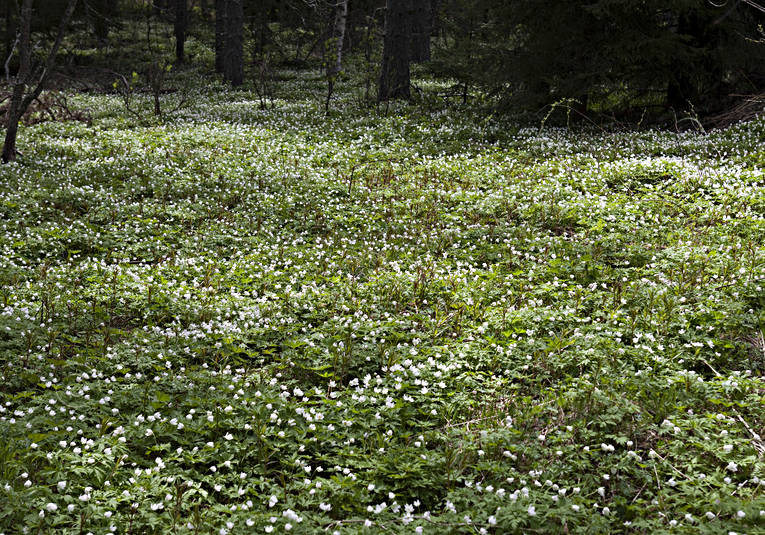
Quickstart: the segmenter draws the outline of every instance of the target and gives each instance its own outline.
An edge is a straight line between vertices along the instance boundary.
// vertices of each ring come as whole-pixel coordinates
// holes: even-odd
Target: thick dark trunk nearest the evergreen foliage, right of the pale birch
[[[412,0],[387,0],[378,100],[408,99]]]

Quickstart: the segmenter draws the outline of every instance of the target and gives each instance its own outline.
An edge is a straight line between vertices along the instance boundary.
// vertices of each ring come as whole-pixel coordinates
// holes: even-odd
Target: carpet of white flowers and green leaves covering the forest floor
[[[0,533],[765,533],[765,120],[284,77],[22,130]]]

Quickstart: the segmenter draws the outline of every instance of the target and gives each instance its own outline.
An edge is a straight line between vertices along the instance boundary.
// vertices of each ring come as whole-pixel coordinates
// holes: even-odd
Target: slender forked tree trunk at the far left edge
[[[41,74],[37,79],[37,83],[32,87],[30,91],[27,88],[33,83],[33,76],[36,76],[32,69],[32,43],[31,43],[31,28],[32,28],[32,4],[33,0],[23,0],[21,5],[21,12],[19,17],[19,70],[12,82],[11,103],[6,116],[6,131],[5,141],[3,142],[3,163],[10,162],[16,159],[16,136],[19,130],[19,121],[24,115],[29,105],[40,96],[45,83],[48,81],[50,72],[53,69],[53,64],[56,60],[56,54],[61,47],[61,42],[64,40],[64,31],[66,30],[69,20],[72,18],[74,8],[77,7],[77,0],[69,0],[66,5],[66,10],[61,18],[58,27],[58,34],[56,40],[53,43],[48,57],[45,60],[45,64],[42,66]]]

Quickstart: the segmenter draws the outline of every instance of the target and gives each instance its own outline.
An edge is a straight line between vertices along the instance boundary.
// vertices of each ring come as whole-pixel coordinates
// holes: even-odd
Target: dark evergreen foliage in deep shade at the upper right
[[[514,106],[719,111],[765,83],[765,15],[730,2],[447,0],[436,72]]]

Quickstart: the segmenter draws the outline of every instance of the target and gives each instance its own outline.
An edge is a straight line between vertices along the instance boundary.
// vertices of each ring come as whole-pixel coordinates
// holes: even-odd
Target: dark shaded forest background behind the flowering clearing
[[[329,108],[350,71],[371,103],[421,97],[416,64],[499,113],[724,126],[762,109],[763,22],[754,0],[5,0],[2,105],[10,124],[14,90],[37,98],[54,71],[104,91],[135,72],[159,95],[196,66],[264,93],[277,69],[319,69]]]

